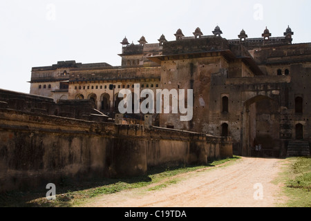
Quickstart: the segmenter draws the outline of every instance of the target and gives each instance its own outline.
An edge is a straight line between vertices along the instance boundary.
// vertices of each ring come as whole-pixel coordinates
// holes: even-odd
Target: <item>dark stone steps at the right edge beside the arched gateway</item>
[[[308,141],[294,140],[288,144],[287,157],[310,156],[310,146]]]

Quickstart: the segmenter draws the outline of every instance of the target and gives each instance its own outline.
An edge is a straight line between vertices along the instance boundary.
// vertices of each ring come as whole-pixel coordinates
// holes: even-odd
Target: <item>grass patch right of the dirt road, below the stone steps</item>
[[[288,158],[284,177],[285,207],[311,207],[311,157]]]

